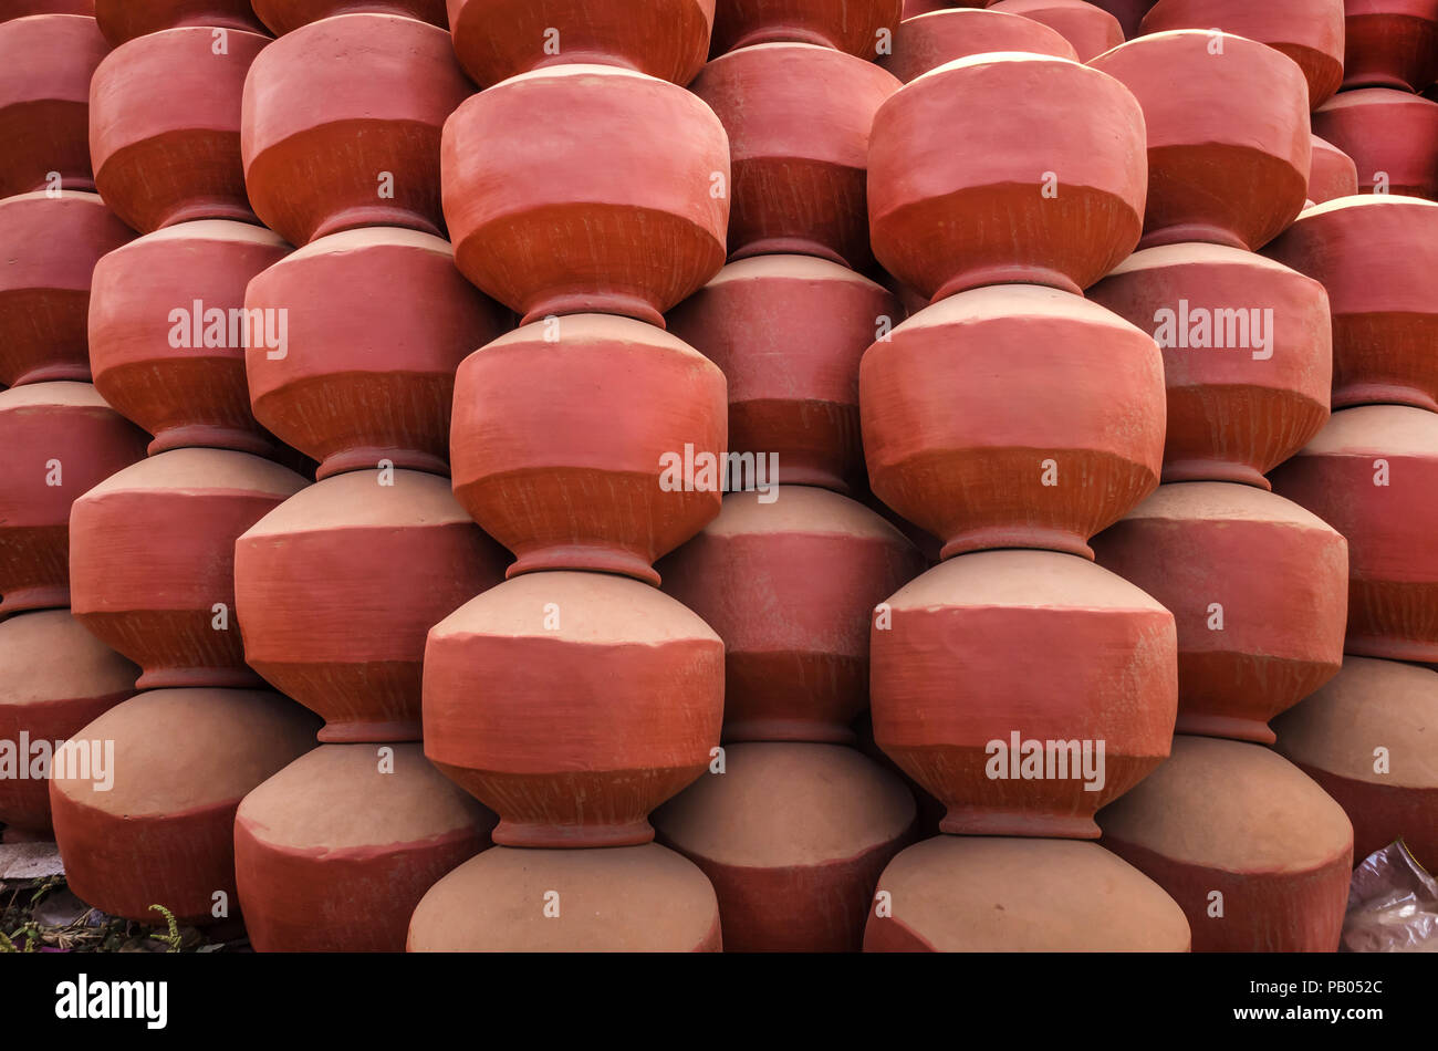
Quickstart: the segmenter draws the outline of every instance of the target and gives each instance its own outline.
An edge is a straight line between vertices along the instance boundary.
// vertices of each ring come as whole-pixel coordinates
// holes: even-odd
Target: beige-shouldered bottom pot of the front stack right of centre
[[[879,877],[864,952],[1188,952],[1183,912],[1091,843],[940,835]]]

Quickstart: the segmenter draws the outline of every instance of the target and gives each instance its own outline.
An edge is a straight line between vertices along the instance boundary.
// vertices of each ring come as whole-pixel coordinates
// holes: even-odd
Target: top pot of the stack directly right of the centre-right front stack
[[[1293,59],[1240,36],[1181,30],[1140,36],[1090,66],[1143,105],[1140,247],[1208,242],[1257,252],[1303,208],[1309,86]]]

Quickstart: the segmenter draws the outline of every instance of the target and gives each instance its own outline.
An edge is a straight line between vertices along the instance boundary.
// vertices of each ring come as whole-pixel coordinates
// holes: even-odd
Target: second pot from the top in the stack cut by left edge
[[[134,236],[95,194],[0,200],[0,384],[89,380],[91,273]]]

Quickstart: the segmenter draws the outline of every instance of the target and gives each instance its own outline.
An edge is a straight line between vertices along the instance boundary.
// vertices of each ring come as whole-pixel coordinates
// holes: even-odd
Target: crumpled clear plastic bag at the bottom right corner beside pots
[[[1353,870],[1342,952],[1438,952],[1438,880],[1402,840]]]

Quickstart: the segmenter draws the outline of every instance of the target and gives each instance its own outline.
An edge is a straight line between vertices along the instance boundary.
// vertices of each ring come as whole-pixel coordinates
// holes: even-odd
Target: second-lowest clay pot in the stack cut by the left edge
[[[145,454],[89,384],[0,391],[0,617],[70,604],[70,505]]]

